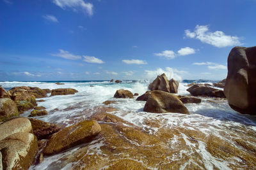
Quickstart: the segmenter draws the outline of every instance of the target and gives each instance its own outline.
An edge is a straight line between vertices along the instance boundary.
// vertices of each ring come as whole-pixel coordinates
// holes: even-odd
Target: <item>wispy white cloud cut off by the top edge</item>
[[[53,0],[53,3],[63,10],[71,8],[74,11],[82,10],[88,15],[93,15],[93,4],[85,3],[83,0]]]

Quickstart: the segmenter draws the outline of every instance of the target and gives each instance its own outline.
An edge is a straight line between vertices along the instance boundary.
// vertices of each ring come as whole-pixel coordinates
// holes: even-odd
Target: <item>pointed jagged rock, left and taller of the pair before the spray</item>
[[[157,78],[148,85],[149,90],[161,90],[164,92],[170,93],[169,81],[166,75],[163,73],[161,76],[157,76]]]

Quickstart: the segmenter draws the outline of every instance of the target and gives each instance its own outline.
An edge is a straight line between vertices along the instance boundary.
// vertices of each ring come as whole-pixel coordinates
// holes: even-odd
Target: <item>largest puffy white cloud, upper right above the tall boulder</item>
[[[208,25],[196,25],[194,32],[187,29],[185,30],[185,35],[188,38],[199,39],[202,43],[207,43],[218,48],[242,44],[237,36],[228,36],[222,31],[210,32]]]

